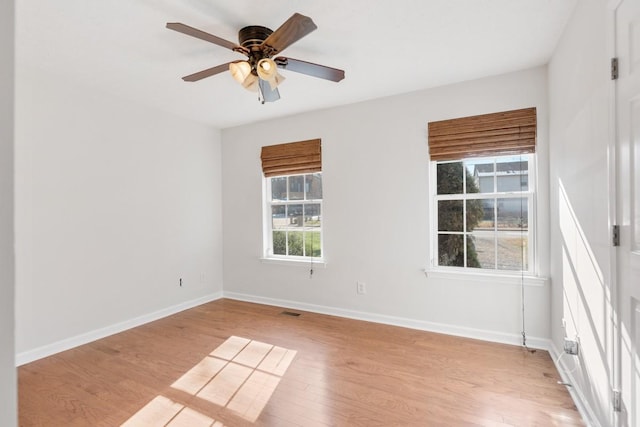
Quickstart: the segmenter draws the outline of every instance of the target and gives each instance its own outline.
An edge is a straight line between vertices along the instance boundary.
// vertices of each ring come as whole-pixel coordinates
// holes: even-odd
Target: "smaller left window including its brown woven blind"
[[[322,157],[319,139],[262,147],[265,256],[318,259],[322,249]]]

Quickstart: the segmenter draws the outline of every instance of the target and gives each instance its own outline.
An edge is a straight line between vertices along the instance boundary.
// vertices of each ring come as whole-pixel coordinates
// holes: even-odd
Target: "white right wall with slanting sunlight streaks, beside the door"
[[[573,390],[594,423],[611,414],[610,231],[607,150],[610,85],[606,2],[578,2],[549,64],[551,330],[555,346],[579,337]],[[562,327],[565,319],[567,327]]]

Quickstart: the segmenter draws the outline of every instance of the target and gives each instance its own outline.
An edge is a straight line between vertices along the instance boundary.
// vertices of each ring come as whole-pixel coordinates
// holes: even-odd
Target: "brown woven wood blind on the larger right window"
[[[536,151],[536,109],[429,123],[431,160],[528,154]]]

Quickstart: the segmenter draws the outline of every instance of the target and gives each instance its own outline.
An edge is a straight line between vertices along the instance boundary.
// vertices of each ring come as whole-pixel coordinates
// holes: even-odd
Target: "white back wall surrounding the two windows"
[[[429,259],[427,123],[538,108],[538,244],[546,275],[546,75],[539,67],[223,130],[225,295],[519,343],[520,280],[427,279],[423,273]],[[260,261],[260,148],[311,138],[322,139],[327,259],[312,279],[307,266]],[[357,281],[366,283],[366,295],[356,294]],[[527,286],[525,298],[527,334],[548,338],[548,287]]]

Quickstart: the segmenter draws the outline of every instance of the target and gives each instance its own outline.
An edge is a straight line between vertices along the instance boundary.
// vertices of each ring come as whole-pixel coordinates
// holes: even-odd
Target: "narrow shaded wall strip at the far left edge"
[[[0,425],[17,425],[14,355],[14,1],[0,2]]]

